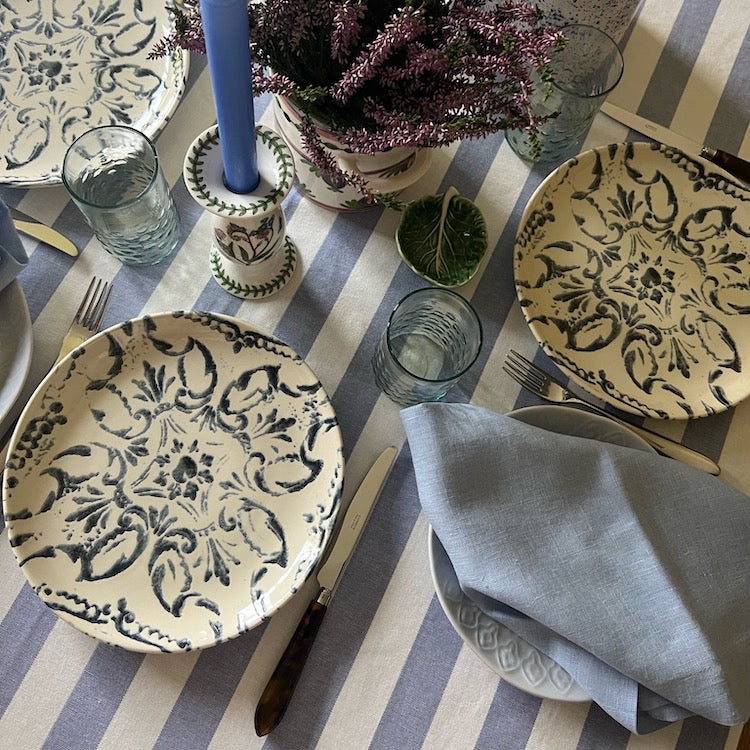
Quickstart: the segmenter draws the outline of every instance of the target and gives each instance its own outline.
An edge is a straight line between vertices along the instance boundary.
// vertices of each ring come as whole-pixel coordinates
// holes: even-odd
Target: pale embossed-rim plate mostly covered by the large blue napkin
[[[605,417],[567,406],[528,406],[509,417],[565,435],[602,440],[652,451],[630,430]],[[583,688],[557,662],[505,625],[482,612],[461,590],[450,558],[435,532],[428,532],[432,582],[446,617],[469,648],[506,682],[540,698],[590,700]]]

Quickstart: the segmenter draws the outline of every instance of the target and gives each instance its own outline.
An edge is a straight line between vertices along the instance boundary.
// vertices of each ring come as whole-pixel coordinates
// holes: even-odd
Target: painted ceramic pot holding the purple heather
[[[310,160],[300,135],[301,118],[294,105],[283,97],[274,98],[276,128],[294,155],[297,186],[320,206],[337,211],[362,211],[372,202],[340,176],[321,171]],[[429,149],[392,148],[378,154],[356,153],[337,141],[323,125],[317,128],[331,156],[347,172],[360,174],[368,189],[395,195],[415,183],[432,161]]]

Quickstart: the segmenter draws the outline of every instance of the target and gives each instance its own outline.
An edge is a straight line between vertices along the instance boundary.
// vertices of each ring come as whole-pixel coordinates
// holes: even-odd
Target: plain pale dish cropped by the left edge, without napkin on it
[[[21,285],[12,281],[0,289],[0,438],[10,429],[10,412],[26,383],[33,348],[29,307]]]

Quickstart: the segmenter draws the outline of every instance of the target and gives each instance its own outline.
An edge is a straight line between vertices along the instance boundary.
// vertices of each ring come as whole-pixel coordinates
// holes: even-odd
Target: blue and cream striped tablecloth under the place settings
[[[617,103],[698,141],[750,158],[750,8],[747,0],[646,0],[624,47]],[[272,124],[267,99],[256,101]],[[735,750],[741,728],[692,718],[647,736],[629,734],[592,703],[541,700],[498,678],[455,633],[435,595],[399,408],[375,387],[370,354],[390,310],[424,286],[399,259],[399,215],[337,214],[294,190],[285,203],[300,261],[291,282],[263,301],[224,292],[208,265],[209,216],[189,198],[182,161],[212,124],[202,58],[157,141],[185,242],[168,261],[125,267],[92,238],[61,187],[0,188],[0,197],[67,234],[76,259],[24,240],[19,281],[33,319],[27,398],[52,364],[89,279],[113,279],[104,324],[144,313],[196,309],[235,315],[299,352],[336,408],[347,460],[344,502],[389,444],[400,454],[343,578],[281,725],[253,731],[260,691],[307,605],[306,587],[270,621],[199,652],[143,656],[90,639],[59,620],[25,584],[0,543],[0,737],[5,747],[53,748],[503,748],[505,750]],[[599,115],[584,147],[639,139]],[[480,359],[450,400],[507,412],[538,403],[510,381],[510,348],[549,364],[516,301],[513,240],[526,201],[548,170],[530,168],[502,134],[434,155],[406,198],[454,185],[483,210],[490,253],[461,293],[480,314]],[[750,403],[685,422],[649,423],[718,460],[723,479],[750,493]],[[313,582],[309,582],[314,586]],[[743,743],[744,744],[744,740]]]

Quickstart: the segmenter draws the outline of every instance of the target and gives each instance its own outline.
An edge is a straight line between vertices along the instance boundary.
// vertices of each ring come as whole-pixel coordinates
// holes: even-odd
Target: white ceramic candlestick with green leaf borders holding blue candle
[[[224,184],[217,126],[193,141],[183,167],[193,199],[213,214],[209,257],[214,278],[243,299],[279,291],[297,262],[281,209],[294,182],[292,153],[276,131],[262,125],[255,131],[260,182],[252,193],[234,193]]]

